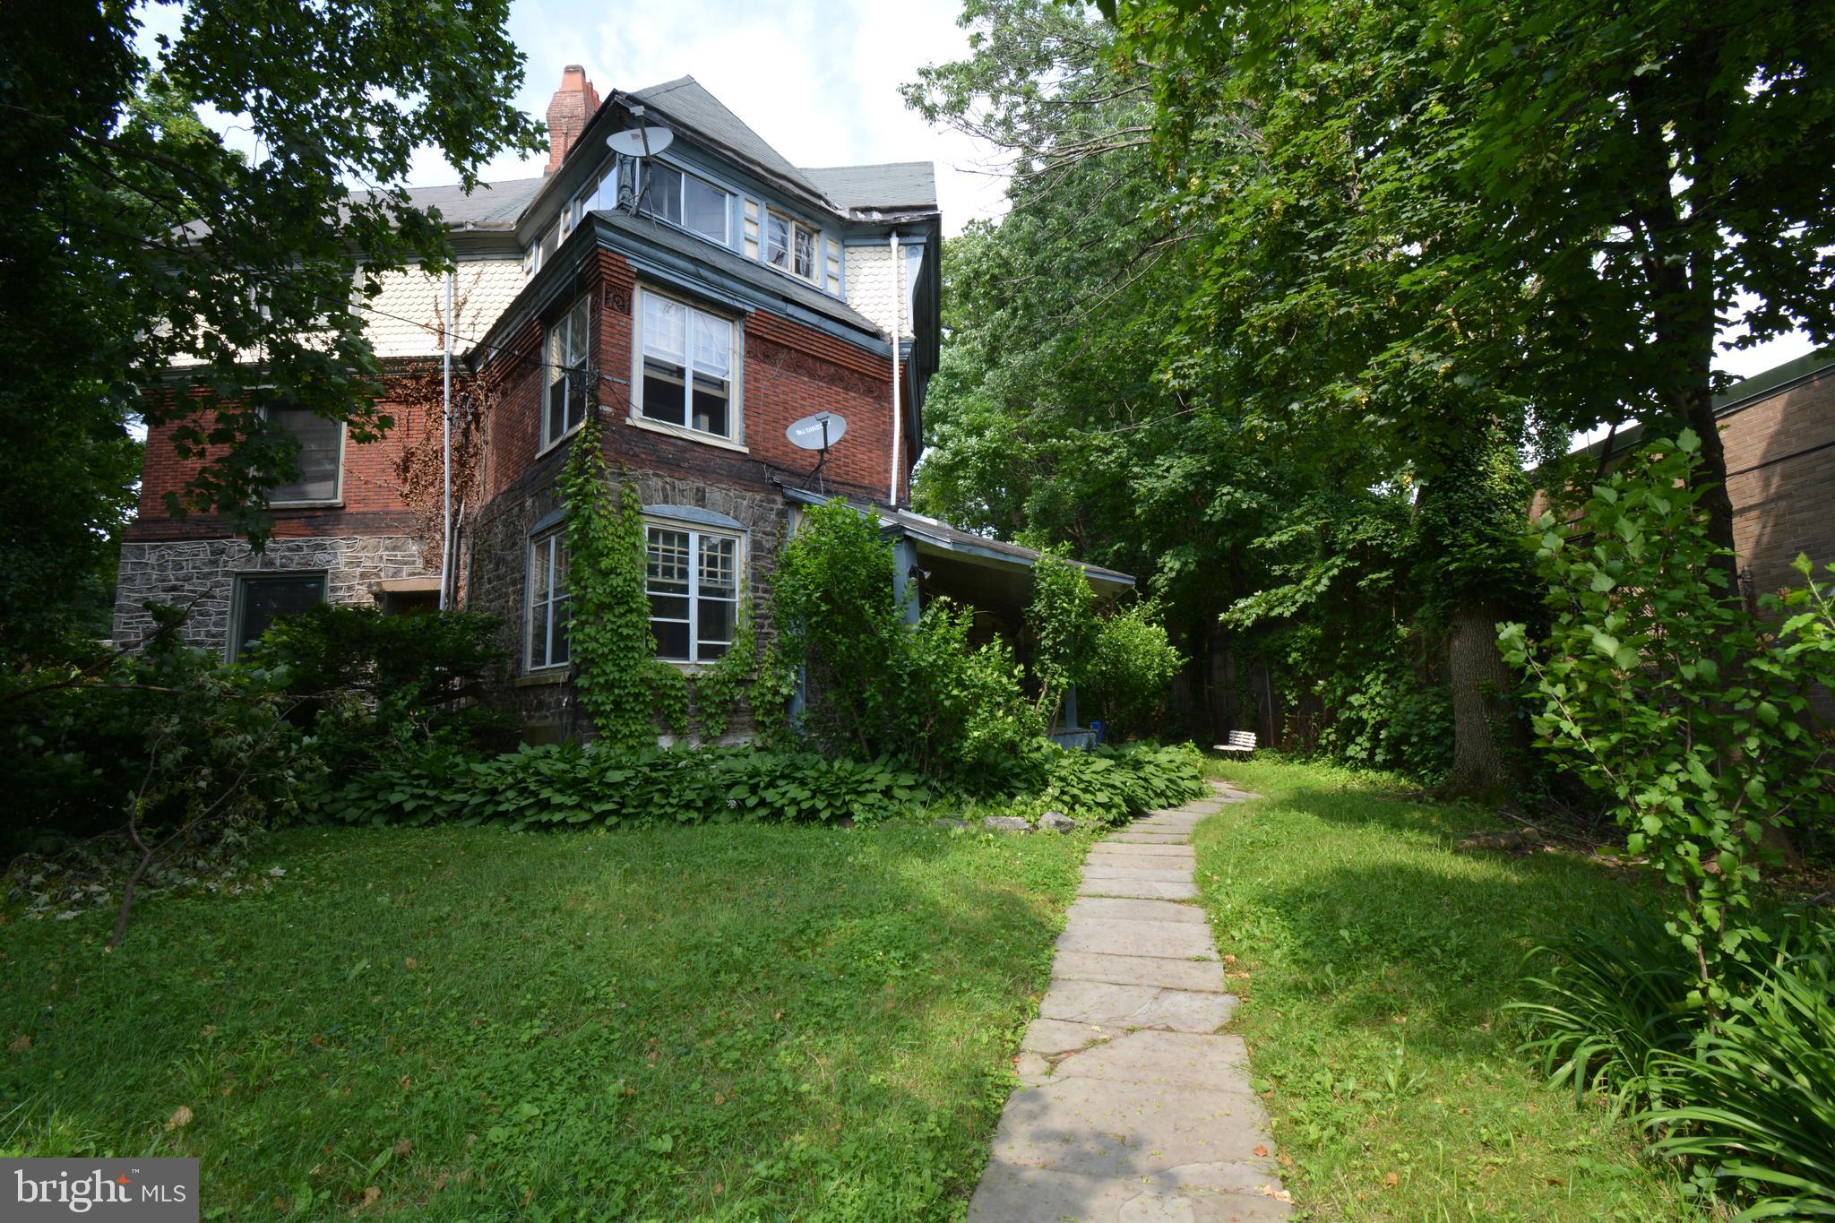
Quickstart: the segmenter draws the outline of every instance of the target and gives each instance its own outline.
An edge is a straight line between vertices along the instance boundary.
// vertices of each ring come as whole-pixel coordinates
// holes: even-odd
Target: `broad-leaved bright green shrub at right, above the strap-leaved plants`
[[[1670,931],[1714,1008],[1752,953],[1765,827],[1829,807],[1809,693],[1835,678],[1835,616],[1811,581],[1798,614],[1760,633],[1708,537],[1697,451],[1686,429],[1652,442],[1593,490],[1574,530],[1545,515],[1551,633],[1530,644],[1505,625],[1501,645],[1536,682],[1547,750],[1677,889]]]

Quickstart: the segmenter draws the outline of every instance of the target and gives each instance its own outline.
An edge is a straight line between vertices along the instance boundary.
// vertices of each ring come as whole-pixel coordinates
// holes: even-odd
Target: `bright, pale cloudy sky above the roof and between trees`
[[[1006,211],[1000,152],[932,128],[905,106],[899,84],[925,64],[962,59],[962,0],[675,0],[624,6],[512,0],[510,37],[527,57],[514,99],[547,114],[567,64],[582,64],[604,97],[692,75],[795,165],[934,161],[945,233]],[[147,35],[176,28],[176,9],[143,9]],[[494,161],[484,178],[539,174],[543,158]],[[453,182],[439,156],[417,158],[411,185]],[[1730,339],[1738,328],[1725,330]],[[1809,352],[1791,334],[1734,352],[1716,369],[1749,378]]]

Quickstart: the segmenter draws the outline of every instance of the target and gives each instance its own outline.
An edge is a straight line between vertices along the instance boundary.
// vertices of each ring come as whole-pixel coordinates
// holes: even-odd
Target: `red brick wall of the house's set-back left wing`
[[[404,532],[413,526],[413,513],[402,501],[395,466],[406,446],[422,438],[426,429],[439,427],[437,413],[418,413],[404,403],[384,402],[378,411],[395,418],[395,427],[378,442],[345,442],[343,506],[319,510],[277,510],[273,534],[303,535],[365,535]],[[156,425],[147,431],[147,460],[139,480],[139,515],[127,528],[134,541],[150,539],[222,539],[235,532],[213,513],[172,517],[165,506],[167,493],[184,490],[200,460],[180,458],[172,447],[178,424]]]

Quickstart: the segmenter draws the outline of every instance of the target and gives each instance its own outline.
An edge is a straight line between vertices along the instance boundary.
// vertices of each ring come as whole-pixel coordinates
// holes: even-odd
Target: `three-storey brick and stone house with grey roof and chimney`
[[[220,521],[172,519],[165,493],[187,469],[167,429],[149,436],[116,638],[145,636],[145,601],[178,603],[189,640],[233,658],[317,601],[444,598],[503,618],[514,666],[499,695],[530,737],[574,733],[556,477],[587,413],[644,501],[651,629],[670,662],[717,658],[745,594],[769,633],[769,565],[800,506],[835,495],[881,513],[919,600],[982,600],[1011,622],[1033,554],[899,510],[938,365],[930,163],[796,167],[692,77],[600,99],[578,66],[549,130],[539,178],[415,193],[451,226],[457,270],[396,275],[367,304],[396,425],[356,446],[306,413],[284,420],[303,475],[273,491],[264,552]],[[622,132],[639,134],[622,138],[637,156],[607,145]],[[428,374],[448,330],[450,535],[428,479],[446,424]],[[846,422],[822,453],[785,433],[815,413]]]

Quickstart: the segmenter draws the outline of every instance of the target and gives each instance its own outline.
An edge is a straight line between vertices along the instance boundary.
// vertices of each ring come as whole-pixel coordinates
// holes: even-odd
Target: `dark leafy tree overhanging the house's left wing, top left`
[[[149,61],[147,7],[73,0],[0,31],[0,651],[46,651],[130,506],[127,422],[174,425],[198,471],[174,508],[259,543],[294,446],[290,400],[363,440],[382,363],[360,301],[450,259],[402,182],[433,147],[466,187],[539,127],[508,106],[508,0],[184,0]],[[253,158],[198,121],[233,119]],[[356,187],[352,187],[352,183]]]

